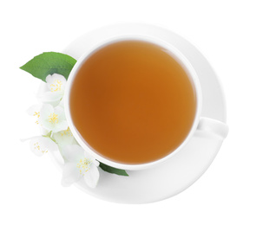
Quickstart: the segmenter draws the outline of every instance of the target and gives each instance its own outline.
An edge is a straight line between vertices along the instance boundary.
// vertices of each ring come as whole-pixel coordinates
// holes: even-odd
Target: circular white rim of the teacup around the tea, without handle
[[[102,155],[98,154],[87,142],[84,138],[82,138],[81,134],[77,131],[75,128],[75,125],[72,121],[70,109],[69,109],[69,97],[70,97],[70,90],[72,87],[72,83],[75,80],[75,75],[79,71],[79,69],[82,67],[83,63],[87,61],[90,57],[90,55],[93,55],[97,50],[100,48],[103,48],[105,46],[108,46],[111,43],[114,42],[121,42],[121,41],[143,41],[143,42],[151,42],[153,44],[156,44],[158,46],[161,46],[162,48],[167,49],[168,54],[170,54],[176,61],[179,62],[181,67],[186,71],[186,74],[190,76],[194,83],[194,91],[196,93],[196,113],[194,116],[194,123],[191,126],[190,132],[188,132],[187,137],[183,140],[181,145],[177,147],[174,151],[169,153],[165,157],[161,157],[155,161],[144,163],[144,164],[122,164],[115,161],[112,161],[108,158],[102,157]],[[65,87],[65,94],[64,94],[64,110],[66,114],[66,119],[69,124],[69,129],[73,133],[76,141],[79,145],[82,146],[84,151],[88,151],[90,155],[95,157],[98,161],[102,162],[103,164],[108,164],[109,166],[119,168],[122,170],[144,170],[148,169],[150,167],[154,167],[154,165],[161,164],[162,162],[165,162],[168,158],[173,157],[177,152],[181,151],[181,149],[187,144],[188,140],[194,135],[194,132],[199,124],[200,121],[200,113],[201,113],[201,107],[202,107],[202,95],[201,95],[201,88],[200,88],[200,81],[199,78],[194,70],[194,67],[191,65],[191,63],[187,60],[187,58],[181,53],[181,51],[177,48],[175,48],[172,44],[169,42],[165,42],[161,40],[160,38],[156,38],[154,36],[146,36],[146,35],[120,35],[120,36],[114,36],[112,38],[108,38],[104,40],[103,42],[98,42],[95,44],[95,46],[91,47],[87,52],[85,52],[79,59],[76,61],[75,66],[72,68],[69,78],[66,83]]]

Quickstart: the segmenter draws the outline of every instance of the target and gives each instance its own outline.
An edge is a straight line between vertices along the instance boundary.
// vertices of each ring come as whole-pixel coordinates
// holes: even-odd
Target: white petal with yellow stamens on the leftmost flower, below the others
[[[43,156],[43,154],[48,151],[57,151],[58,146],[50,138],[36,136],[30,138],[30,150],[33,151],[36,156]]]

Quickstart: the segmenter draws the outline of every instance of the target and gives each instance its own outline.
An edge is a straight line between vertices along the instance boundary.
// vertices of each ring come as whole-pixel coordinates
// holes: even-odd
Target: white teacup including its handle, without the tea
[[[174,151],[172,151],[170,154],[168,154],[166,157],[162,157],[161,159],[158,159],[154,162],[150,162],[147,164],[121,164],[115,161],[111,161],[106,157],[102,157],[102,155],[98,154],[96,150],[94,150],[87,142],[82,138],[81,134],[76,130],[75,125],[73,123],[71,114],[70,114],[70,108],[69,108],[69,100],[70,100],[70,90],[73,84],[73,81],[75,80],[75,76],[79,69],[82,67],[84,63],[89,59],[90,55],[93,55],[95,51],[97,51],[99,48],[102,48],[108,44],[111,44],[113,42],[120,42],[125,40],[138,40],[138,41],[145,41],[145,42],[152,42],[156,45],[161,46],[162,48],[165,48],[169,55],[174,57],[176,61],[178,61],[183,69],[187,72],[187,75],[190,77],[191,80],[193,80],[194,83],[194,89],[196,93],[196,113],[194,117],[194,123],[191,126],[190,132],[187,135],[187,138],[184,139],[184,141],[177,147]],[[194,132],[196,130],[200,131],[206,131],[206,132],[212,132],[215,135],[218,135],[220,138],[226,138],[226,134],[228,132],[228,127],[226,124],[215,120],[215,119],[208,119],[208,118],[202,118],[201,115],[201,107],[202,107],[202,93],[200,88],[200,81],[199,78],[194,71],[194,67],[191,65],[189,61],[187,61],[187,58],[181,54],[179,49],[174,48],[170,43],[164,42],[158,38],[155,38],[154,36],[140,36],[140,35],[125,35],[125,36],[117,36],[113,37],[111,39],[105,40],[104,42],[98,43],[96,46],[93,46],[90,48],[87,52],[85,52],[82,57],[75,63],[75,67],[73,67],[71,73],[69,74],[69,79],[66,84],[66,93],[64,97],[64,106],[65,106],[65,113],[66,118],[69,123],[69,128],[73,135],[75,136],[75,139],[79,143],[79,145],[82,146],[82,148],[85,149],[85,151],[89,151],[89,153],[95,157],[98,161],[102,162],[103,164],[108,164],[109,166],[123,169],[123,170],[143,170],[148,169],[149,167],[153,167],[157,164],[161,164],[165,162],[168,158],[173,157],[174,154],[181,151],[184,145],[187,144],[190,138],[193,137]]]

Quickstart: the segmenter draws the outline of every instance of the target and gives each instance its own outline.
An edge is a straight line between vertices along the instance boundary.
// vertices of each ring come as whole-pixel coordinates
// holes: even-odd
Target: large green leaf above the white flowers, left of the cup
[[[38,79],[45,81],[49,74],[62,74],[68,79],[76,60],[69,55],[57,52],[44,52],[35,56],[20,67]]]

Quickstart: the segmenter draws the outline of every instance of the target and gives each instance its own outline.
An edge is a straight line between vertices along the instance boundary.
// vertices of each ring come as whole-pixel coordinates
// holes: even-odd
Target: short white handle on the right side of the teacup
[[[228,126],[219,120],[201,117],[197,131],[211,132],[219,138],[225,139],[228,133]]]

